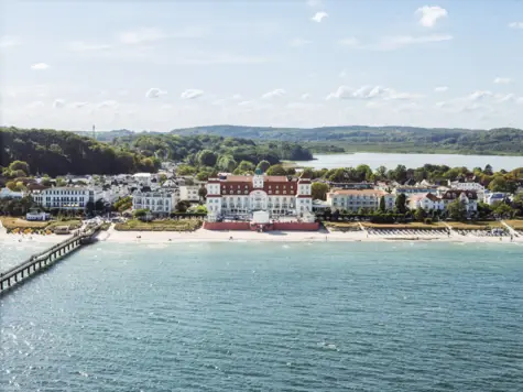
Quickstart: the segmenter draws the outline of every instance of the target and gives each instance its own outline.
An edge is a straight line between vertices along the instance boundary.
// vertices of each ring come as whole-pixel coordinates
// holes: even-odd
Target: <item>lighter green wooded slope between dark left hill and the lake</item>
[[[197,154],[209,150],[219,156],[231,156],[235,161],[257,164],[269,161],[276,164],[281,160],[308,161],[313,154],[307,149],[292,142],[254,142],[241,138],[222,138],[201,134],[181,137],[172,133],[135,133],[115,138],[113,145],[138,151],[146,156],[170,159],[194,163]]]

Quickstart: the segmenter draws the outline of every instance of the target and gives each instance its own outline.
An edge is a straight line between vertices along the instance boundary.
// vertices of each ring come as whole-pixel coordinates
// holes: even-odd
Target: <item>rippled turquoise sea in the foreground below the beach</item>
[[[0,300],[2,391],[521,391],[523,248],[112,244]]]

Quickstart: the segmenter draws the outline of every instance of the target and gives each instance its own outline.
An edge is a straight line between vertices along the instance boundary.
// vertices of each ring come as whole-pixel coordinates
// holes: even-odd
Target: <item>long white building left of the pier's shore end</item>
[[[56,186],[33,190],[33,200],[47,209],[79,210],[95,202],[95,190],[85,186]]]

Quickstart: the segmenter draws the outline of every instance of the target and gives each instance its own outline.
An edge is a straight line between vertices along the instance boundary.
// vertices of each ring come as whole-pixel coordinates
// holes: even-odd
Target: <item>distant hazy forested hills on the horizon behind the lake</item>
[[[178,134],[216,134],[302,142],[315,152],[329,152],[329,145],[351,151],[449,152],[462,154],[523,154],[523,131],[513,128],[492,130],[428,129],[414,127],[324,127],[263,128],[214,126],[175,130]],[[334,151],[333,151],[334,152]]]

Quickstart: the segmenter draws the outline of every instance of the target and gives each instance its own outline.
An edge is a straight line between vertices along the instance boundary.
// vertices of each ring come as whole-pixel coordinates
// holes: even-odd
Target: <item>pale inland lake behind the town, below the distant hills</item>
[[[296,163],[299,166],[314,168],[356,167],[360,164],[367,164],[372,170],[381,165],[386,168],[395,168],[397,165],[415,168],[426,163],[450,167],[465,166],[472,170],[475,167],[484,167],[489,164],[494,171],[502,168],[511,171],[523,167],[523,156],[385,153],[315,154],[313,161],[299,161]]]

